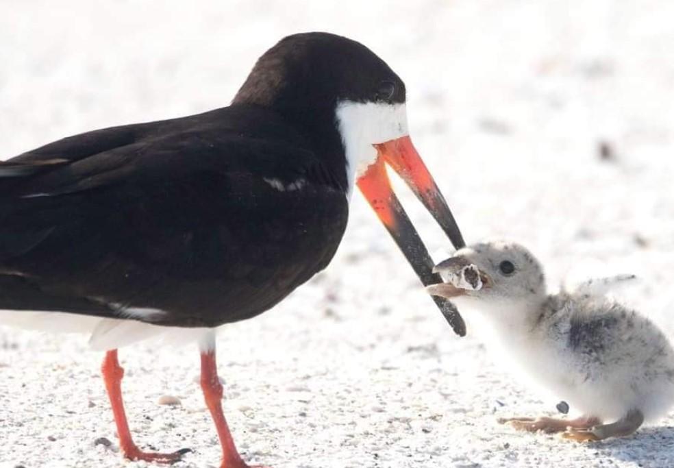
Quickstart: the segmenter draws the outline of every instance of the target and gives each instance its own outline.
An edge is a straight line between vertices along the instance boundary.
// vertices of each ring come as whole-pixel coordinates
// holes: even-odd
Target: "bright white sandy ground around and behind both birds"
[[[334,32],[405,81],[412,139],[466,241],[527,245],[551,289],[636,273],[621,298],[674,332],[673,18],[666,0],[2,0],[0,159],[227,106],[277,40]],[[398,191],[434,258],[448,256]],[[227,417],[255,463],[674,465],[674,417],[589,448],[498,426],[556,401],[495,365],[479,330],[452,334],[358,194],[330,267],[223,329],[219,349]],[[0,467],[119,466],[101,357],[86,336],[0,328]],[[121,358],[139,443],[196,450],[175,467],[218,465],[194,347],[136,345]],[[158,406],[164,394],[182,406]],[[101,436],[112,447],[95,446]]]

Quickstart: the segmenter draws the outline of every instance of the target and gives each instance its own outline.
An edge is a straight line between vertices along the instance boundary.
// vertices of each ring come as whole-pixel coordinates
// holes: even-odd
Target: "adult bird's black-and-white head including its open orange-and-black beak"
[[[271,108],[308,138],[345,194],[358,186],[423,284],[440,281],[393,193],[386,164],[410,186],[455,248],[464,247],[447,202],[412,145],[405,84],[353,40],[327,33],[288,36],[255,64],[233,104]],[[464,324],[446,299],[436,303],[454,330]]]

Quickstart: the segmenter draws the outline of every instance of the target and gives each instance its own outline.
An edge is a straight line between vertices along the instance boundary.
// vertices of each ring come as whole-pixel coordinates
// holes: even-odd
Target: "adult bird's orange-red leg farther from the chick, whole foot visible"
[[[114,422],[117,425],[119,446],[126,458],[129,460],[145,460],[155,463],[173,463],[176,460],[179,460],[186,452],[190,452],[189,449],[182,449],[178,452],[173,452],[172,454],[142,452],[134,443],[131,432],[129,432],[129,423],[127,423],[124,412],[121,389],[124,369],[120,367],[119,362],[117,361],[116,349],[112,349],[112,351],[108,351],[105,354],[101,372],[103,373],[103,380],[105,380],[105,388],[108,389],[108,397],[110,397]]]

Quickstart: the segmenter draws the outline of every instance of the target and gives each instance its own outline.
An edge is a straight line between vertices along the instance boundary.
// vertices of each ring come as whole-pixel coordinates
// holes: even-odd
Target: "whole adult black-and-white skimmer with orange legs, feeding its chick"
[[[197,338],[221,466],[245,467],[221,408],[212,330],[269,310],[327,266],[354,186],[422,282],[440,282],[385,163],[463,247],[412,146],[401,79],[353,40],[288,36],[229,107],[95,130],[1,163],[0,309],[13,312],[0,322],[92,331],[107,351],[121,450],[134,460],[181,454],[134,444],[117,347],[172,328]]]

